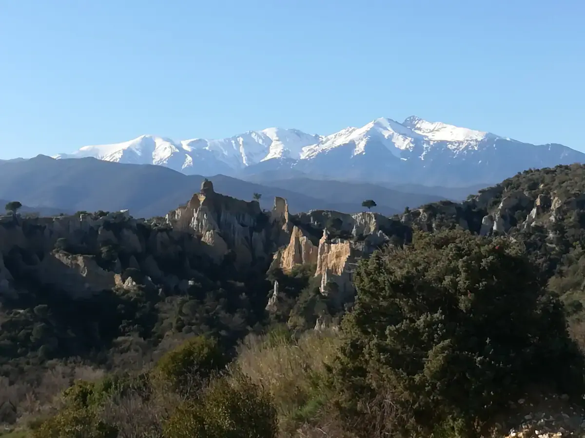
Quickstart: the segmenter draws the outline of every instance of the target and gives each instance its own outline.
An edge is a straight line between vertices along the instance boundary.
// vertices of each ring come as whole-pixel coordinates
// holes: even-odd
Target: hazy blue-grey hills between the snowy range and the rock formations
[[[164,166],[119,164],[91,157],[53,159],[39,155],[25,161],[0,162],[0,197],[32,206],[58,206],[67,211],[128,209],[136,217],[151,217],[166,214],[190,199],[198,192],[203,179],[201,175],[184,175]],[[367,193],[358,190],[359,196],[353,194],[346,198],[341,191],[328,199],[324,195],[314,196],[308,186],[303,189],[285,183],[261,185],[223,175],[209,179],[218,192],[239,199],[252,199],[253,193],[262,194],[263,208],[271,208],[275,196],[285,197],[292,213],[315,209],[362,211],[362,198]],[[356,190],[350,185],[345,187]],[[376,211],[382,214],[395,214],[405,206],[437,199],[381,190],[384,196],[380,194],[376,200],[380,204]]]

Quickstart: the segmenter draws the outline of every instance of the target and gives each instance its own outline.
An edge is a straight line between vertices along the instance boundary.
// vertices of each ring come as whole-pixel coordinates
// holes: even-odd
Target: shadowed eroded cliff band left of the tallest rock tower
[[[32,281],[53,286],[73,298],[87,298],[102,290],[131,285],[121,277],[129,267],[142,272],[146,283],[152,284],[152,278],[160,288],[172,289],[180,286],[180,281],[165,273],[161,263],[181,263],[188,278],[197,273],[191,265],[205,267],[204,246],[191,234],[136,221],[123,212],[0,217],[0,294],[17,294],[18,280],[20,288],[23,281]]]

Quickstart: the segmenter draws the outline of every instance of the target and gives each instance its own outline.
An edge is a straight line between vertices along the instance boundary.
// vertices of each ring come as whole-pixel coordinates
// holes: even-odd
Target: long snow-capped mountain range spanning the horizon
[[[142,135],[85,146],[54,158],[95,157],[167,166],[187,174],[246,176],[278,170],[332,179],[472,185],[498,182],[528,168],[584,162],[560,144],[532,145],[484,131],[408,117],[381,118],[331,135],[267,128],[221,140],[173,141]]]

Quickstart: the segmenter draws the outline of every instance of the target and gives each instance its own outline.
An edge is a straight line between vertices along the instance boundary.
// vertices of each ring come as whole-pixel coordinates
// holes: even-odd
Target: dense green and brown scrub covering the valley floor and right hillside
[[[435,232],[362,260],[343,308],[319,293],[314,266],[242,275],[198,256],[197,281],[161,294],[106,245],[98,262],[121,260],[138,284],[80,301],[27,275],[35,255],[12,253],[27,293],[2,297],[0,422],[39,438],[472,438],[535,388],[581,404],[584,177],[527,171],[463,204],[406,211]],[[520,201],[500,208],[512,193]],[[486,215],[505,231],[481,237]],[[181,277],[185,253],[158,257]],[[267,312],[274,280],[285,302]],[[313,329],[324,317],[333,328]]]

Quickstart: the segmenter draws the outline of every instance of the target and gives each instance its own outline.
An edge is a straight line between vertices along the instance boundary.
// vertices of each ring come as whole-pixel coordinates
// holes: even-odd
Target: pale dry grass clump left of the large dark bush
[[[338,345],[332,331],[310,331],[298,340],[249,336],[240,345],[236,365],[273,396],[282,436],[308,436],[309,425],[323,416],[331,397],[325,365]],[[313,429],[311,436],[321,433]]]

